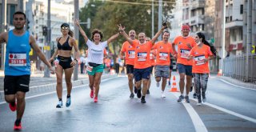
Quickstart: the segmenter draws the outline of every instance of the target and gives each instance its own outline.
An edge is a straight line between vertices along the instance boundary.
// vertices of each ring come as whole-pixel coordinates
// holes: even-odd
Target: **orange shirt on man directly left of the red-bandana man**
[[[152,48],[157,50],[155,65],[170,66],[170,54],[173,52],[171,43],[160,41],[154,44]]]

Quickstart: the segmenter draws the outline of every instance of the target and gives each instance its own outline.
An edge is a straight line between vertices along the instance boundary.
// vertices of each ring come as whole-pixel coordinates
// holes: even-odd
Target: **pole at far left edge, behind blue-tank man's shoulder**
[[[6,32],[6,0],[2,0],[2,22],[1,32]],[[6,45],[1,46],[1,70],[5,69],[5,58],[6,58]]]

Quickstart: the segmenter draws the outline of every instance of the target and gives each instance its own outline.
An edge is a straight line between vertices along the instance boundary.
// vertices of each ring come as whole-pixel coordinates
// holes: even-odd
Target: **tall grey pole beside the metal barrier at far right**
[[[249,82],[249,53],[252,44],[251,31],[252,31],[252,0],[247,0],[247,35],[246,35],[246,82]],[[253,59],[251,60],[251,62]]]

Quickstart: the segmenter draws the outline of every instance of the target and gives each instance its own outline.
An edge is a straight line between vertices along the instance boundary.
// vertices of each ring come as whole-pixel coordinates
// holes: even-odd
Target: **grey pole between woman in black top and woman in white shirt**
[[[79,18],[79,1],[74,0],[74,19]],[[79,40],[79,31],[78,31],[78,26],[74,26],[74,38],[78,44]],[[75,54],[74,54],[75,55]],[[78,63],[74,66],[74,77],[73,80],[78,80]]]

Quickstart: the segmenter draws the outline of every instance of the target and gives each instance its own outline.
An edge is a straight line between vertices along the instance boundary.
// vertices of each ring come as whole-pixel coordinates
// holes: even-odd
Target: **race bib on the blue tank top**
[[[9,66],[26,66],[26,53],[9,54]]]

